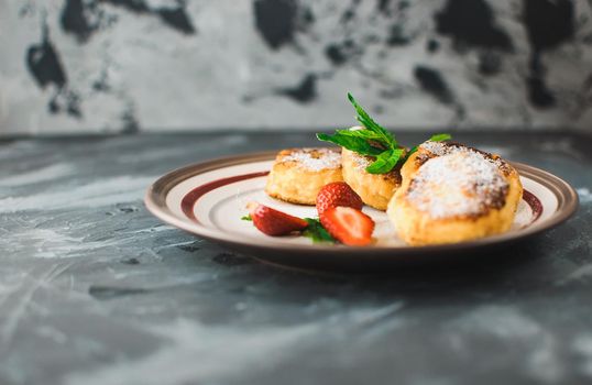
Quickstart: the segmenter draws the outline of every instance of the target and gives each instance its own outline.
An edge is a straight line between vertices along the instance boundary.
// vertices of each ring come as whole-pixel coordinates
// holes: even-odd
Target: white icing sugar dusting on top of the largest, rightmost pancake
[[[407,194],[420,211],[442,219],[480,215],[490,207],[500,208],[505,204],[508,184],[496,161],[467,147],[449,153],[434,147],[436,151],[424,148],[442,155],[419,167]]]

